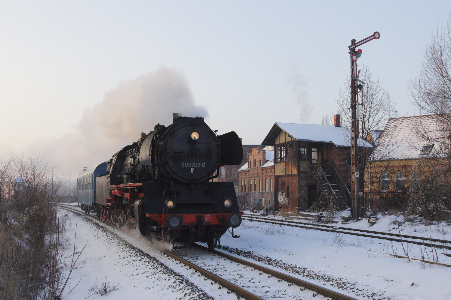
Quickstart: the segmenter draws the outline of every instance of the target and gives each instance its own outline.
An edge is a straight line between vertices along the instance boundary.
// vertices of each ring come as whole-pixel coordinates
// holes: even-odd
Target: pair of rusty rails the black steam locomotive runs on
[[[87,216],[87,217],[89,217],[91,219],[96,220],[97,222],[101,222],[102,224],[105,224],[106,226],[108,226],[109,228],[111,228],[111,229],[113,229],[115,231],[118,231],[120,233],[126,234],[129,238],[131,238],[131,239],[133,239],[133,240],[135,240],[137,242],[143,243],[143,241],[147,241],[147,240],[144,240],[144,239],[139,239],[137,237],[134,237],[133,235],[129,234],[126,230],[124,230],[122,228],[118,228],[114,224],[110,224],[110,223],[108,223],[108,222],[106,222],[104,220],[101,220],[101,219],[97,218],[96,216],[86,215],[83,211],[75,209],[74,206],[64,205],[64,204],[57,204],[57,206],[65,209],[65,210],[73,211],[75,213]],[[150,244],[150,241],[147,241],[147,242]],[[209,250],[207,247],[202,246],[202,245],[198,245],[198,244],[196,244],[195,246],[198,247],[199,249],[204,250],[204,251],[211,252],[214,255],[219,255],[219,256],[223,257],[224,259],[226,259],[226,260],[230,260],[230,263],[233,261],[233,262],[235,262],[237,264],[242,264],[243,268],[250,267],[250,268],[253,268],[254,270],[259,270],[259,271],[261,271],[261,273],[259,273],[259,275],[267,276],[267,278],[271,278],[271,277],[279,278],[278,282],[285,281],[285,282],[288,283],[289,287],[291,285],[296,285],[296,286],[300,287],[300,291],[304,291],[305,289],[307,289],[309,291],[312,291],[313,292],[313,295],[312,295],[313,297],[316,297],[318,294],[321,294],[324,297],[335,299],[335,300],[357,300],[354,297],[351,297],[351,296],[348,296],[348,295],[345,295],[345,294],[341,294],[339,292],[327,289],[326,287],[313,284],[312,282],[307,282],[307,281],[304,281],[302,279],[296,278],[294,276],[291,276],[291,275],[288,275],[288,274],[276,271],[276,270],[271,269],[271,268],[267,268],[266,266],[263,266],[263,265],[260,265],[260,264],[255,264],[255,263],[253,263],[251,261],[248,261],[248,260],[243,260],[243,259],[241,259],[239,257],[234,256],[234,255],[227,254],[227,253],[225,253],[223,251],[217,251],[217,250],[214,250],[214,249],[213,250]],[[265,299],[265,298],[262,298],[262,297],[256,295],[252,291],[249,291],[248,289],[244,288],[243,286],[240,287],[239,285],[237,285],[237,284],[235,284],[233,282],[230,282],[229,280],[227,280],[225,278],[222,278],[221,276],[219,276],[219,275],[217,275],[215,273],[212,273],[212,272],[210,272],[210,271],[208,271],[206,269],[203,269],[202,267],[198,266],[197,264],[193,264],[192,262],[189,262],[188,260],[185,260],[184,258],[180,257],[179,255],[176,255],[176,254],[171,253],[169,251],[157,249],[157,248],[154,248],[154,249],[156,249],[158,251],[161,251],[162,254],[167,255],[168,257],[171,257],[171,258],[179,261],[180,263],[184,264],[185,266],[187,266],[187,267],[189,267],[191,269],[194,269],[195,271],[197,271],[200,274],[202,274],[205,277],[205,279],[208,278],[208,279],[212,280],[213,282],[217,282],[218,284],[220,284],[221,287],[226,287],[229,291],[234,292],[237,295],[238,298],[243,297],[244,299],[247,299],[247,300],[264,300]],[[213,282],[212,282],[212,284],[213,284]]]

